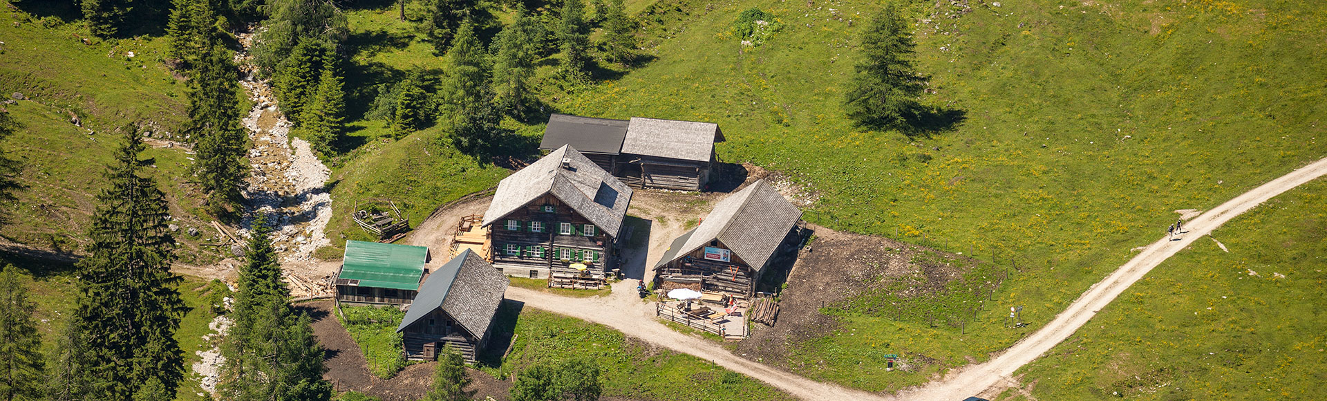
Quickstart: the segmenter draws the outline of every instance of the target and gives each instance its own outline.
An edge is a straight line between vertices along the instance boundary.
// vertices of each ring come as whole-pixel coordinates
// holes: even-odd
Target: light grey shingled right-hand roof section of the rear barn
[[[714,142],[723,142],[718,123],[632,117],[622,153],[709,162]]]

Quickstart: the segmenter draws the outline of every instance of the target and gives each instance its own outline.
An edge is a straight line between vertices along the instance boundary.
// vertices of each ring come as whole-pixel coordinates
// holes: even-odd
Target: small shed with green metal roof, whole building
[[[348,240],[336,276],[336,299],[342,304],[410,304],[427,262],[425,247]]]

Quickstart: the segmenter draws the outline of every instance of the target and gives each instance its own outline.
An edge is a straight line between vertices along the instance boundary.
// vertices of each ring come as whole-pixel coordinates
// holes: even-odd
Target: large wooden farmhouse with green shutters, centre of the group
[[[492,264],[552,287],[598,288],[632,189],[564,145],[498,183],[484,212]]]

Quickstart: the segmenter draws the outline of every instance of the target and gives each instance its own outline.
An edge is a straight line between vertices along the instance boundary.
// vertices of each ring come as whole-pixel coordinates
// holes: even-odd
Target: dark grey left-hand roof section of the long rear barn
[[[618,154],[626,138],[626,123],[625,120],[553,114],[548,117],[539,149],[555,150],[571,145],[581,153]]]

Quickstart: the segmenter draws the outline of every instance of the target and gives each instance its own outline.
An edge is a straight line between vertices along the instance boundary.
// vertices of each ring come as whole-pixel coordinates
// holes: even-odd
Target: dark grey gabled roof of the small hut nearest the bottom
[[[466,250],[429,275],[397,331],[442,308],[471,335],[483,337],[502,304],[507,284],[506,275]]]

